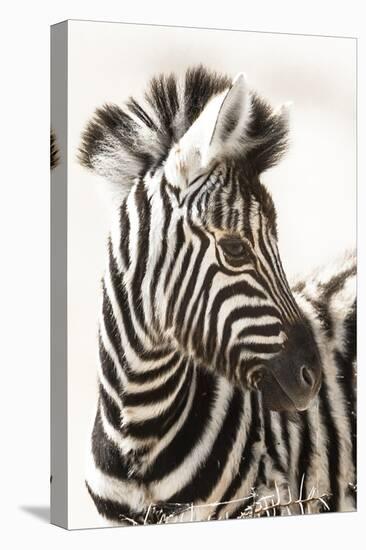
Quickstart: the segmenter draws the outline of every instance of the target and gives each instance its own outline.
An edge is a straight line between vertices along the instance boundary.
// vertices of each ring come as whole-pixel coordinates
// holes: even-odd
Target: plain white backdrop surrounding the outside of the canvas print
[[[185,548],[187,545],[238,544],[251,547],[356,548],[361,534],[364,474],[359,468],[359,512],[311,518],[213,522],[200,525],[90,530],[67,533],[47,525],[49,493],[49,28],[66,18],[124,20],[249,30],[359,36],[361,2],[63,1],[12,2],[2,7],[1,139],[2,139],[2,300],[1,300],[1,530],[6,548],[100,548],[143,545]],[[366,97],[365,52],[359,42],[359,98]],[[340,75],[342,78],[342,75]],[[287,98],[284,98],[287,99]],[[363,104],[359,151],[365,150]],[[360,157],[362,155],[360,154]],[[362,205],[365,168],[359,170],[359,327],[364,326],[365,258]],[[359,361],[365,357],[362,338]],[[360,393],[365,383],[359,376]],[[362,400],[361,400],[362,403]],[[360,465],[364,463],[364,414],[359,411]]]

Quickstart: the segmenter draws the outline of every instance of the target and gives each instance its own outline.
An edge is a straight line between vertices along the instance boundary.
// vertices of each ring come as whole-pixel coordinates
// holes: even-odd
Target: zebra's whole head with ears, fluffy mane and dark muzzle
[[[114,253],[139,302],[135,327],[146,345],[165,342],[262,391],[271,409],[306,409],[321,382],[319,353],[260,182],[285,150],[286,107],[273,111],[243,75],[231,82],[202,68],[181,87],[172,76],[153,80],[146,99],[148,108],[131,99],[126,111],[97,111],[81,148],[115,198],[117,189]]]

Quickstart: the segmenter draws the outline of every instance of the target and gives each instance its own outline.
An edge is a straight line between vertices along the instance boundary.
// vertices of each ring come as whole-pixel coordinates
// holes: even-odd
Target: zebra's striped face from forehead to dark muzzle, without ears
[[[164,331],[196,361],[261,390],[269,408],[307,408],[319,389],[319,353],[282,268],[269,193],[234,162],[183,193],[167,184],[167,193],[177,222]]]

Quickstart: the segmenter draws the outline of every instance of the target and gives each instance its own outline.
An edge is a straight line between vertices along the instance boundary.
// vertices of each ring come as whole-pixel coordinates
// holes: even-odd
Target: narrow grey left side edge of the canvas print
[[[67,92],[68,22],[51,26],[51,523],[68,528],[67,441]]]

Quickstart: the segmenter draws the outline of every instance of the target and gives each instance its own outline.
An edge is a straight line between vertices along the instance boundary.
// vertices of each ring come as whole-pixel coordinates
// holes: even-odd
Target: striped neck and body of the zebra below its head
[[[326,505],[315,498],[305,512],[355,508],[354,258],[296,287],[319,341],[324,375],[318,397],[297,413],[268,411],[260,394],[233,388],[176,353],[154,357],[154,368],[145,372],[120,364],[115,315],[124,304],[104,292],[87,476],[101,514],[138,523],[253,515],[271,502],[263,497],[277,501],[276,485],[282,504],[324,496]],[[188,510],[183,516],[182,508]],[[287,507],[276,510],[288,513]],[[290,511],[301,513],[301,505]]]

